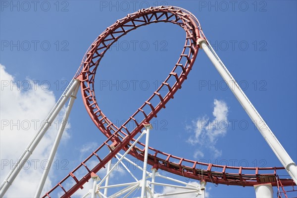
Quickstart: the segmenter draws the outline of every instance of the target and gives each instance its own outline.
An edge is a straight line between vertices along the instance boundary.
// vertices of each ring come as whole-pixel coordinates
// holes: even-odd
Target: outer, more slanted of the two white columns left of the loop
[[[52,108],[52,110],[50,111],[46,119],[46,122],[44,122],[44,124],[40,127],[40,129],[38,130],[38,132],[36,133],[32,141],[29,143],[27,148],[24,150],[22,155],[17,160],[17,163],[13,166],[13,168],[10,170],[5,180],[2,182],[0,187],[1,198],[5,195],[6,191],[11,186],[12,182],[14,181],[14,179],[22,169],[23,165],[25,164],[21,162],[27,161],[29,159],[34,149],[37,147],[37,145],[39,144],[39,142],[41,141],[45,133],[48,131],[51,123],[54,121],[55,117],[58,115],[58,113],[64,106],[65,102],[71,96],[71,94],[76,89],[76,87],[79,86],[79,84],[80,84],[79,80],[76,80],[76,79],[72,80],[71,83],[68,85],[67,89],[65,90],[65,92],[63,93],[63,95],[61,96],[61,98],[57,101],[55,106]]]

